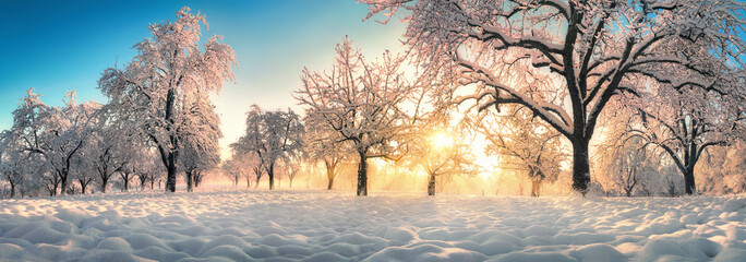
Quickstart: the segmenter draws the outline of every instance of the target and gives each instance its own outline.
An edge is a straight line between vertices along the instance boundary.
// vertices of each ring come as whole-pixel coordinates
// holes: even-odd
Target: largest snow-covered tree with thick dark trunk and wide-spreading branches
[[[590,181],[589,141],[617,94],[638,79],[708,88],[739,61],[744,4],[735,0],[363,0],[370,19],[406,9],[405,43],[430,68],[456,64],[456,102],[519,104],[567,138],[573,188]],[[683,50],[699,51],[683,51]],[[677,73],[667,73],[675,69]]]

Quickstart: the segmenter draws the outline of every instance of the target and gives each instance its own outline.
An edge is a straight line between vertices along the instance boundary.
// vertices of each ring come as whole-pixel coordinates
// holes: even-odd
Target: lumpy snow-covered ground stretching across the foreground
[[[746,195],[351,192],[0,201],[0,261],[746,261]]]

